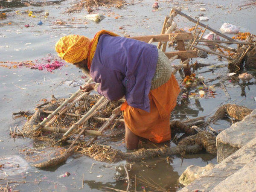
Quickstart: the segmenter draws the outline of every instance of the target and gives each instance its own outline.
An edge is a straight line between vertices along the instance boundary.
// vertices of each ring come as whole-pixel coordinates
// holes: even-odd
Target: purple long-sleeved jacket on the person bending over
[[[150,112],[148,93],[158,59],[157,47],[124,37],[101,35],[90,68],[98,92],[109,100],[125,96],[128,105]]]

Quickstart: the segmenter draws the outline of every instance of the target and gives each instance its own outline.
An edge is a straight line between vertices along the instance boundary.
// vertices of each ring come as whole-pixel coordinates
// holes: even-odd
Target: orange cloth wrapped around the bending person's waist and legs
[[[170,114],[179,93],[179,84],[172,74],[169,81],[149,92],[150,113],[131,107],[127,102],[122,105],[125,124],[135,135],[154,143],[170,140]]]

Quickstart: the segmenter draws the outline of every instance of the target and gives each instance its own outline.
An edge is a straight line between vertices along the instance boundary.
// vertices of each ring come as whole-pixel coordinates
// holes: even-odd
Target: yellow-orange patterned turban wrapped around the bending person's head
[[[82,35],[67,35],[55,44],[55,51],[68,63],[78,63],[87,58],[90,39]]]

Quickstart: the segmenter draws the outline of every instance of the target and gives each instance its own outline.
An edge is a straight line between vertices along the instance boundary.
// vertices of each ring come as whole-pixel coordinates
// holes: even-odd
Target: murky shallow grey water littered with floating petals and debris
[[[80,12],[68,15],[65,13],[67,7],[74,3],[70,0],[63,1],[61,4],[53,4],[50,6],[40,7],[20,7],[14,3],[11,8],[0,9],[0,12],[8,12],[6,20],[0,20],[0,61],[26,61],[40,59],[47,56],[47,54],[54,52],[55,42],[63,35],[79,34],[86,35],[92,38],[93,35],[100,29],[108,29],[116,32],[119,35],[145,35],[160,33],[165,15],[168,15],[172,6],[176,4],[184,4],[183,12],[192,17],[204,13],[209,17],[209,26],[219,29],[224,22],[230,22],[240,27],[243,32],[251,32],[256,34],[256,20],[255,7],[239,10],[238,6],[244,1],[242,0],[205,0],[203,6],[207,9],[206,12],[201,12],[198,4],[202,1],[158,1],[160,8],[157,12],[152,12],[151,5],[154,1],[134,1],[134,5],[126,5],[124,9],[116,8],[100,8],[95,11],[106,16],[100,23],[94,23],[84,18],[87,13]],[[223,9],[216,9],[217,5],[222,5]],[[4,6],[3,1],[0,1],[0,7]],[[19,7],[19,8],[16,8]],[[187,10],[186,10],[187,9]],[[19,10],[21,14],[16,14]],[[28,17],[28,14],[22,14],[26,10],[33,11],[35,18]],[[44,12],[49,12],[49,17],[44,18]],[[43,11],[41,13],[35,13]],[[120,17],[119,17],[120,16]],[[118,17],[118,18],[115,18]],[[73,19],[74,18],[74,19]],[[38,26],[39,19],[44,23]],[[56,20],[67,21],[66,26],[57,26],[53,22]],[[185,20],[183,17],[177,16],[175,18],[180,28],[190,28],[194,26]],[[8,23],[11,22],[11,25]],[[29,24],[26,28],[24,25]],[[119,29],[119,28],[123,29]],[[196,59],[193,59],[195,61]],[[188,98],[178,99],[177,106],[172,112],[172,119],[188,119],[198,116],[205,116],[209,113],[214,113],[215,110],[222,104],[232,102],[237,105],[244,105],[248,108],[256,108],[255,97],[255,79],[250,83],[243,83],[239,81],[236,76],[227,77],[229,73],[227,69],[227,61],[218,61],[214,55],[208,55],[207,59],[197,58],[201,63],[209,63],[216,67],[203,67],[194,71],[197,76],[204,76],[205,81],[221,76],[222,80],[229,92],[231,99],[227,99],[222,90],[219,80],[207,83],[207,86],[215,84],[216,95],[215,98]],[[253,74],[253,71],[250,71]],[[253,74],[255,75],[255,74]],[[15,125],[21,127],[25,119],[12,119],[12,112],[20,110],[34,110],[35,105],[40,103],[41,99],[50,99],[51,95],[55,97],[68,97],[69,93],[75,92],[78,87],[66,87],[64,84],[59,84],[61,81],[81,80],[82,73],[79,73],[75,67],[68,65],[57,69],[54,73],[45,70],[31,70],[29,68],[9,69],[0,67],[0,108],[2,110],[1,134],[0,140],[0,156],[3,155],[20,155],[27,158],[31,165],[33,162],[29,161],[26,151],[36,151],[31,156],[40,154],[40,151],[49,150],[54,153],[55,149],[48,149],[47,145],[41,142],[23,138],[11,139],[9,137],[9,128],[14,128]],[[180,82],[182,77],[177,73],[176,78]],[[231,82],[230,82],[231,80]],[[191,89],[190,91],[195,91]],[[231,122],[232,123],[232,122]],[[230,126],[227,120],[220,120],[218,124],[212,125],[215,130],[225,129]],[[115,148],[125,151],[123,143],[123,134],[119,135],[116,140],[106,140],[106,143],[111,143]],[[174,144],[166,143],[173,146]],[[142,143],[146,147],[154,147],[148,143]],[[25,152],[24,152],[25,151]],[[142,180],[148,180],[153,183],[157,189],[155,190],[171,190],[176,191],[181,186],[177,184],[177,179],[181,173],[189,165],[205,166],[207,163],[216,163],[216,158],[207,154],[197,154],[185,157],[183,160],[180,156],[172,156],[169,163],[165,158],[154,158],[151,160],[142,160],[140,162],[119,162],[119,163],[102,163],[92,160],[84,156],[75,156],[67,160],[67,162],[54,169],[41,170],[29,166],[26,172],[22,175],[16,175],[19,180],[26,180],[26,184],[20,183],[15,186],[15,189],[22,191],[78,191],[82,187],[82,175],[84,174],[84,191],[105,190],[103,187],[108,186],[116,189],[126,190],[127,183],[125,181],[116,181],[113,179],[116,174],[116,167],[122,164],[131,166],[129,175],[131,177],[131,190],[135,189],[135,175],[136,175],[136,189],[142,191],[145,187],[146,191],[154,190],[148,187]],[[92,173],[89,173],[90,168]],[[1,163],[0,163],[1,164]],[[58,177],[65,172],[70,172],[69,177]],[[102,175],[102,177],[97,177]],[[26,177],[26,178],[23,178]],[[142,180],[141,180],[142,179]],[[153,180],[153,181],[152,181]],[[40,182],[39,182],[40,181]],[[1,182],[0,183],[4,183]]]

